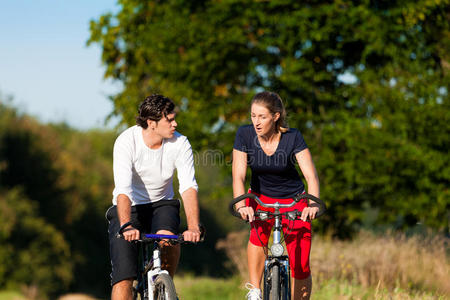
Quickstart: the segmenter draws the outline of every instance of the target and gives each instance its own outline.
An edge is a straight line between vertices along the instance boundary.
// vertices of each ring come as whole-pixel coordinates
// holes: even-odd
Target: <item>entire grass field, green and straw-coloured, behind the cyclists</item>
[[[227,279],[175,276],[181,300],[245,299],[246,232],[232,233],[222,249],[235,265]],[[361,232],[351,241],[315,237],[311,251],[312,300],[450,300],[449,239]],[[60,300],[81,300],[70,296]],[[36,300],[19,292],[0,292],[0,300]]]

